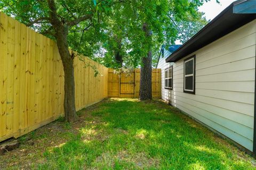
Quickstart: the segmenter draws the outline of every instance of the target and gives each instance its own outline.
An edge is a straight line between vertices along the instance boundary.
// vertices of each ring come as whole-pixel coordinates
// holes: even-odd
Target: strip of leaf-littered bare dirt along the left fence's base
[[[67,136],[62,134],[67,132],[78,134],[80,133],[79,129],[86,125],[91,126],[102,123],[97,120],[97,117],[90,115],[90,112],[97,108],[98,105],[92,105],[84,109],[81,111],[82,114],[79,116],[79,120],[73,124],[55,121],[18,138],[21,142],[19,148],[7,151],[0,156],[0,169],[10,167],[14,169],[15,167],[17,167],[16,169],[31,169],[33,165],[44,163],[46,159],[43,154],[47,149],[59,147],[69,140]],[[86,118],[88,117],[93,118],[93,121],[87,121]],[[107,139],[107,137],[101,137],[100,134],[91,138],[97,138],[102,141]]]

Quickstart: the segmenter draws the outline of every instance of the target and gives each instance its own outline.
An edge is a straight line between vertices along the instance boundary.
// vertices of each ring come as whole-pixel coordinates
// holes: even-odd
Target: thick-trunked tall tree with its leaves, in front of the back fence
[[[205,0],[207,1],[207,0]],[[154,56],[162,44],[173,44],[179,32],[174,21],[188,21],[198,17],[198,6],[204,0],[148,0],[129,1],[123,4],[129,8],[131,20],[129,22],[129,54],[133,58],[140,58],[141,81],[140,99],[151,99],[151,67]]]

